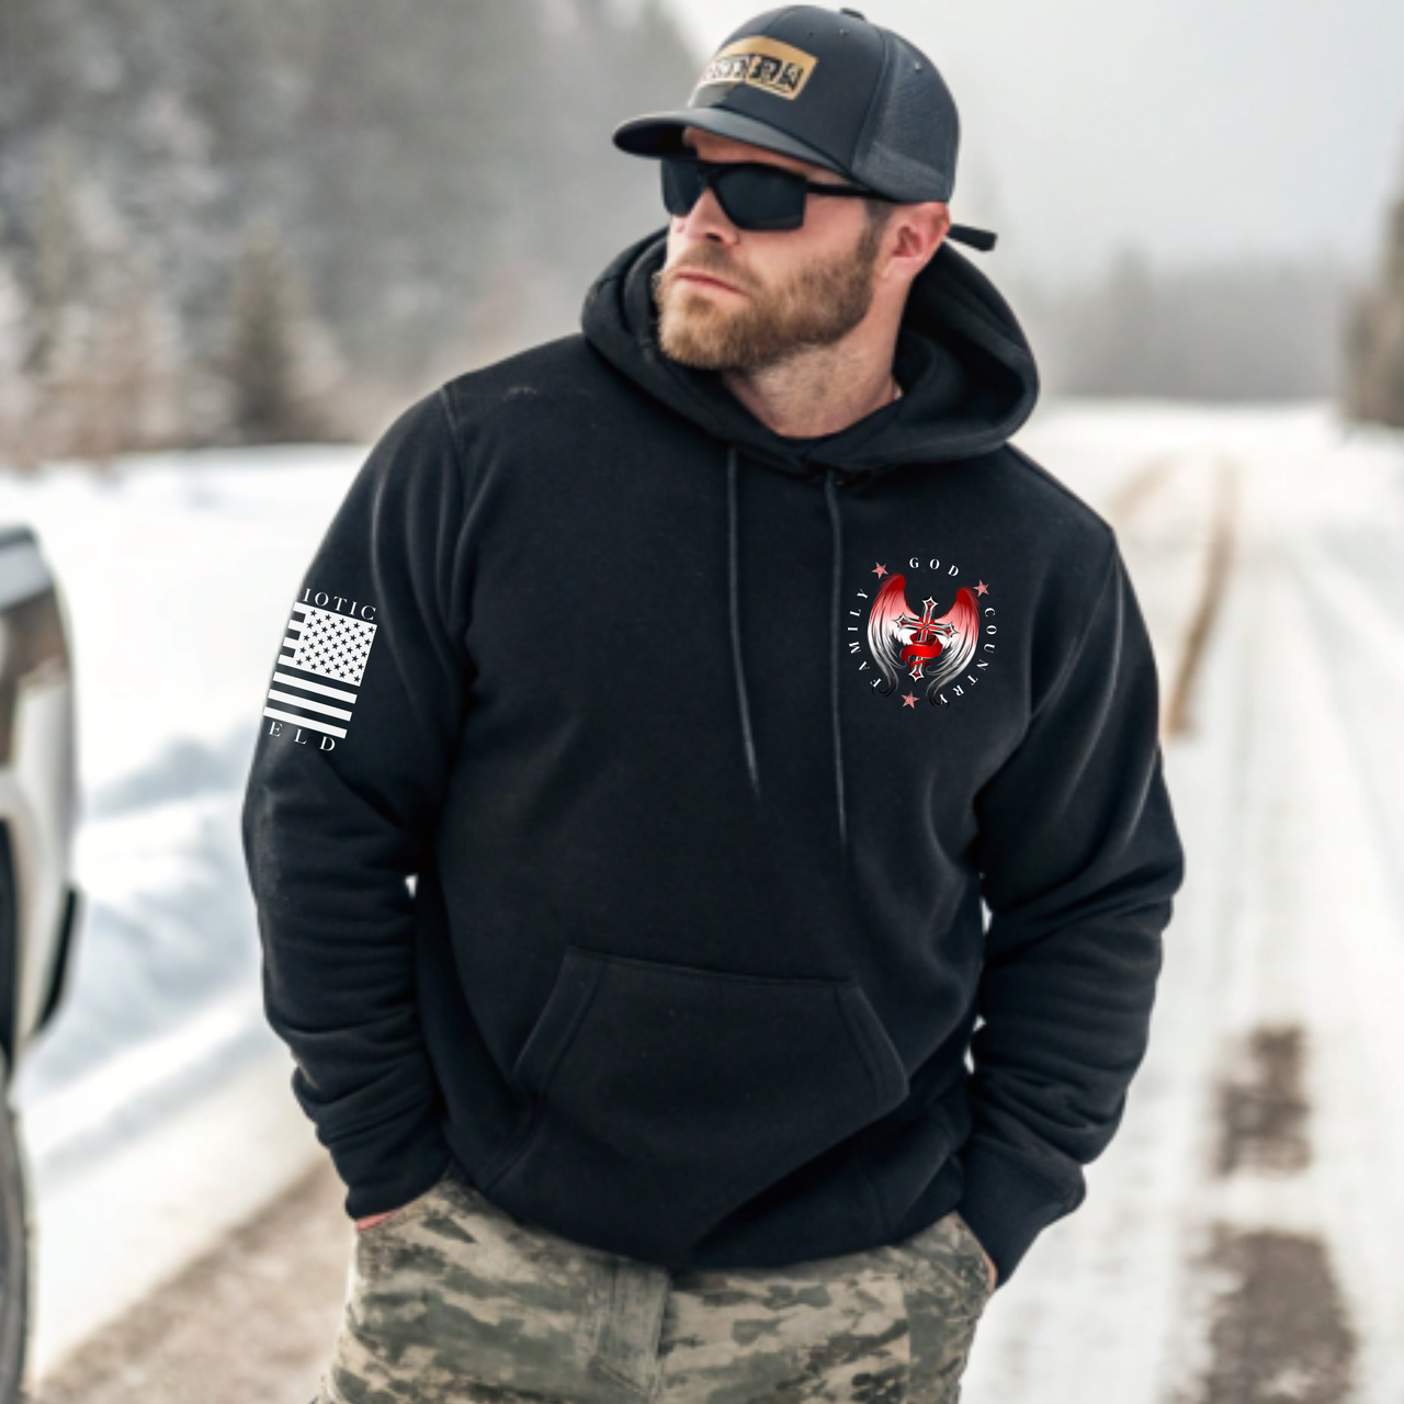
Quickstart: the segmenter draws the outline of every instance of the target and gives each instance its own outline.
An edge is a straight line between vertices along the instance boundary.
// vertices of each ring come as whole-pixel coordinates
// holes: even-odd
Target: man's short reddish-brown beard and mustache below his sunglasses
[[[653,275],[663,354],[699,371],[761,371],[848,336],[873,300],[882,227],[865,223],[858,247],[799,264],[783,282],[760,285],[715,244],[698,244]],[[723,309],[678,284],[681,271],[715,274],[747,293]]]

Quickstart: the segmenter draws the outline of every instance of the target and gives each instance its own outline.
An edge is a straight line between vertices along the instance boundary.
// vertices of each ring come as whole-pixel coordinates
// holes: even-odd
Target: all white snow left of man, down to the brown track
[[[239,838],[263,694],[359,446],[0,477],[56,573],[79,698],[84,893],[69,997],[20,1061],[31,1372],[324,1151],[263,1018]]]

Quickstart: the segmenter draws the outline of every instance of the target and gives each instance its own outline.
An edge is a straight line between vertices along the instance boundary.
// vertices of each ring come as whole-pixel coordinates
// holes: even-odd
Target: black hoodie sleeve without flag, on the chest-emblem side
[[[959,1207],[1001,1283],[1085,1198],[1146,1052],[1184,875],[1157,694],[1113,542],[1081,637],[976,799],[990,924]]]

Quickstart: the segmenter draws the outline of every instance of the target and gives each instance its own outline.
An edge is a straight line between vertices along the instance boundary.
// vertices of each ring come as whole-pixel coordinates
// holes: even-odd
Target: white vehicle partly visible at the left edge
[[[34,532],[0,526],[0,1078],[63,998],[77,925],[73,680],[58,588]],[[18,1397],[28,1335],[28,1212],[0,1097],[0,1404]]]

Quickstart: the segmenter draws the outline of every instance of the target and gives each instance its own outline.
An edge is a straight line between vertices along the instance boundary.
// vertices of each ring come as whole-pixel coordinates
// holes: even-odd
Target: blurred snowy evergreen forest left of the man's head
[[[609,131],[699,62],[661,0],[0,0],[0,257],[45,452],[163,439],[171,413],[184,442],[324,434],[333,378],[365,435],[573,330],[664,219]],[[160,413],[112,389],[122,326],[163,383],[178,347]]]

